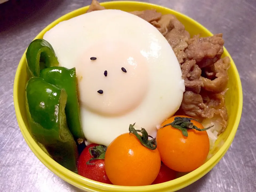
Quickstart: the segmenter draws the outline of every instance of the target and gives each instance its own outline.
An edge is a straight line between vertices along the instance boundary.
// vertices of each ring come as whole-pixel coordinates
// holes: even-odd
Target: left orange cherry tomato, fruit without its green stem
[[[119,135],[107,147],[105,169],[114,185],[150,185],[157,177],[160,166],[158,149],[143,146],[133,133]]]

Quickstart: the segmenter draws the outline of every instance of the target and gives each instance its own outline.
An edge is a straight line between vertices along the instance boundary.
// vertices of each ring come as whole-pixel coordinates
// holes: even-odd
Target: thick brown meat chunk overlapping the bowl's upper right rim
[[[188,46],[185,50],[188,59],[195,59],[200,68],[213,65],[218,61],[223,53],[224,40],[222,34],[211,37],[195,36],[187,41]]]

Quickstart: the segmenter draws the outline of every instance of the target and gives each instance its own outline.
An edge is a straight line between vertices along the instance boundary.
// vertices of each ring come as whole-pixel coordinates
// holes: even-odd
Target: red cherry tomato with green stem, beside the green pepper
[[[89,150],[91,150],[91,153]],[[82,151],[78,159],[78,164],[77,164],[78,174],[88,179],[92,179],[94,181],[112,184],[109,181],[109,178],[107,178],[106,171],[105,171],[105,162],[104,162],[105,152],[106,152],[105,146],[100,146],[94,143],[85,147],[85,149]],[[93,159],[90,161],[91,158],[101,158],[101,159]],[[89,162],[90,164],[88,165],[87,162]]]

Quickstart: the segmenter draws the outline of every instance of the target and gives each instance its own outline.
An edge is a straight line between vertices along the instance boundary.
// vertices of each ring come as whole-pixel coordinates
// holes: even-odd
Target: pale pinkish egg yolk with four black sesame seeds
[[[101,115],[123,115],[135,109],[149,87],[147,58],[135,44],[98,41],[76,64],[81,105]]]

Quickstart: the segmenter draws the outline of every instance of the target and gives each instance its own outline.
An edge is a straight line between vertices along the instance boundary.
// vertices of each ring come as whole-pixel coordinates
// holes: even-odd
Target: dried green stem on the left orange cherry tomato
[[[141,142],[141,144],[151,150],[155,150],[157,148],[157,142],[153,137],[148,135],[147,131],[144,128],[141,128],[141,130],[135,130],[134,125],[129,126],[129,133],[133,133]],[[138,132],[140,132],[142,135],[139,135]],[[149,140],[149,137],[152,138]]]

